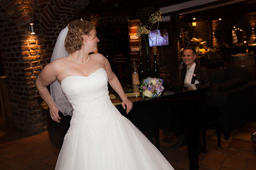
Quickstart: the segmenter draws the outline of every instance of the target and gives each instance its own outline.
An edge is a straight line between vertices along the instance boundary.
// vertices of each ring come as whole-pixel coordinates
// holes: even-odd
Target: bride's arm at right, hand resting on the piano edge
[[[124,89],[122,88],[120,81],[116,77],[115,73],[112,72],[111,66],[108,62],[108,59],[104,58],[104,65],[106,72],[108,74],[108,82],[110,86],[116,91],[119,97],[122,99],[122,106],[125,109],[126,105],[126,113],[129,113],[132,109],[132,102],[126,97],[124,93]]]

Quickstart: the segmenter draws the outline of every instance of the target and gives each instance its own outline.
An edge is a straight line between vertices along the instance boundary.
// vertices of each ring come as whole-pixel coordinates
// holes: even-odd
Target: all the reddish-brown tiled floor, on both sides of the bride
[[[29,136],[0,121],[0,169],[54,169],[60,150],[52,146],[47,131]],[[200,169],[256,169],[256,148],[250,139],[255,131],[256,121],[251,121],[232,132],[229,141],[222,136],[218,148],[215,131],[207,130],[207,153],[199,156]],[[161,151],[172,166],[188,169],[187,147],[171,149],[175,137],[162,130],[160,134]]]

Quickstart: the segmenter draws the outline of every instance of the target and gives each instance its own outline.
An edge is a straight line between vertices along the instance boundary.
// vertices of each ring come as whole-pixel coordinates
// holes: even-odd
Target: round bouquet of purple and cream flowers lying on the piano
[[[159,97],[164,91],[163,79],[148,77],[140,82],[138,88],[143,97]]]

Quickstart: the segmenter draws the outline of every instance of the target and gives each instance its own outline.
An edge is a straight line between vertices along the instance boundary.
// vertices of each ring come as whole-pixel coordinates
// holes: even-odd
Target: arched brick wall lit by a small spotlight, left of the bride
[[[86,1],[0,1],[1,57],[8,84],[12,125],[36,134],[46,130],[42,99],[35,88],[41,69],[50,61],[63,26],[83,11]],[[34,22],[36,35],[29,35]]]

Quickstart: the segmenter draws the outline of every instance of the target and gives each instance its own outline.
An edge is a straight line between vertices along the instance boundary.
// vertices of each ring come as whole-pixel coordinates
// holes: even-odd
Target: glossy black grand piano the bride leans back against
[[[189,169],[199,169],[200,128],[207,106],[207,88],[204,86],[164,86],[161,97],[143,98],[138,89],[123,86],[125,94],[133,102],[133,108],[126,114],[118,95],[111,89],[109,97],[126,118],[138,127],[148,139],[159,148],[159,128],[169,132],[182,128],[188,139]],[[51,143],[61,148],[63,138],[70,125],[71,116],[61,114],[61,123],[51,120],[47,114],[47,128]]]

